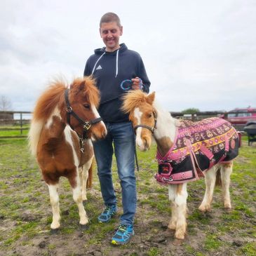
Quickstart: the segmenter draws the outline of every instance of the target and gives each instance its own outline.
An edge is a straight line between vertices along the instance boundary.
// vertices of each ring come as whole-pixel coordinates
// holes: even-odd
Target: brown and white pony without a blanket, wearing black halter
[[[70,88],[63,81],[54,81],[36,103],[29,146],[49,189],[52,230],[60,227],[61,176],[67,177],[72,187],[79,208],[79,223],[88,223],[83,200],[86,200],[86,181],[94,156],[91,139],[102,139],[107,134],[96,109],[99,100],[95,81],[87,77],[75,79]]]

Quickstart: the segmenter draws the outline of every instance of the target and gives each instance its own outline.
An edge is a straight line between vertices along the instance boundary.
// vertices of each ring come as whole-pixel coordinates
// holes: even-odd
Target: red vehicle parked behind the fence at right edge
[[[245,126],[249,124],[250,121],[256,121],[256,108],[248,107],[246,109],[233,109],[224,116],[234,126]]]

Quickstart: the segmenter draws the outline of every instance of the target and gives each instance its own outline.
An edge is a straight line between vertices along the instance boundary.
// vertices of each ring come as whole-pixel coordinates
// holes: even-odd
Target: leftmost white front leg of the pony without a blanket
[[[50,224],[51,229],[58,229],[60,227],[60,203],[58,195],[58,183],[47,184],[50,194],[50,204],[53,209],[53,222]]]

